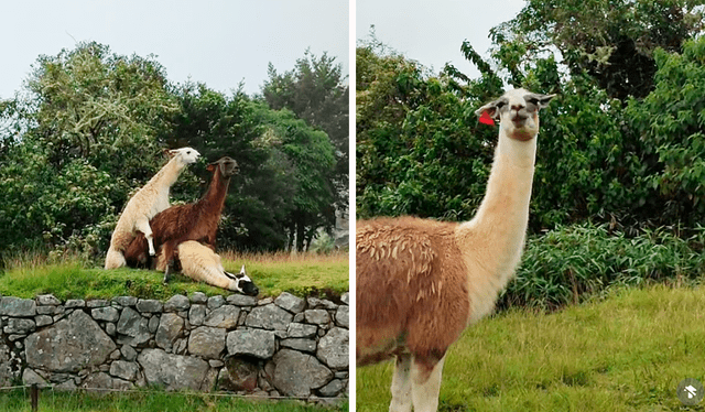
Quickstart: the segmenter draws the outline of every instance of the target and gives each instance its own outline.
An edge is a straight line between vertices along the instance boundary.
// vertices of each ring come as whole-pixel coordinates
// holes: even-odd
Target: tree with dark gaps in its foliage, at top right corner
[[[587,73],[623,102],[653,89],[657,48],[677,53],[703,28],[698,0],[530,0],[490,35],[499,55],[514,55],[510,72],[557,50],[572,75]]]

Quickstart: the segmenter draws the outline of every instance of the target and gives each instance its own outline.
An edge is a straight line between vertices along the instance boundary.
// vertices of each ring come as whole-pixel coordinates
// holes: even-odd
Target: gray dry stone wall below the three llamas
[[[348,299],[2,296],[0,386],[347,397]]]

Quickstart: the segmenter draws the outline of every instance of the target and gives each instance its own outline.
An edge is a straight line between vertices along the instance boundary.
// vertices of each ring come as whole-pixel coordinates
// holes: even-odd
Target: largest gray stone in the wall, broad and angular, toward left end
[[[24,340],[26,364],[57,372],[77,372],[102,364],[116,345],[83,311],[36,332]]]

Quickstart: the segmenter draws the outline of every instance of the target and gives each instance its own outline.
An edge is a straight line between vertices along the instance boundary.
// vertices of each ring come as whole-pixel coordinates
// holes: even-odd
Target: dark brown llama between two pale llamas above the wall
[[[213,172],[213,178],[208,191],[198,202],[172,206],[150,220],[154,245],[160,249],[156,270],[164,271],[164,282],[169,281],[174,265],[174,252],[180,243],[196,240],[215,250],[216,232],[225,197],[230,177],[238,172],[238,164],[235,160],[225,156],[210,163],[206,169]],[[147,263],[147,247],[144,237],[138,235],[124,252],[128,265],[137,267]]]

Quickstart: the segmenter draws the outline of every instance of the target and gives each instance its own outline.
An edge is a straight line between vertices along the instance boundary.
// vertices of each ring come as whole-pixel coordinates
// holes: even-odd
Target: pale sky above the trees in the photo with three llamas
[[[170,80],[229,94],[260,91],[267,65],[294,68],[307,47],[349,71],[348,0],[21,0],[0,12],[0,98],[36,58],[96,41],[113,53],[155,54]]]

